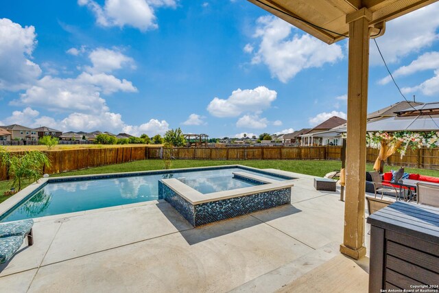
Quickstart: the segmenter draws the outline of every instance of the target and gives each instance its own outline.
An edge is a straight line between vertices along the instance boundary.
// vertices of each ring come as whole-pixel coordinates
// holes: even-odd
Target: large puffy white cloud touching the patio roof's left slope
[[[261,42],[252,64],[267,65],[272,76],[281,82],[288,82],[303,69],[322,67],[343,58],[340,45],[327,45],[309,34],[297,34],[295,27],[277,17],[261,16],[257,25],[254,38]]]

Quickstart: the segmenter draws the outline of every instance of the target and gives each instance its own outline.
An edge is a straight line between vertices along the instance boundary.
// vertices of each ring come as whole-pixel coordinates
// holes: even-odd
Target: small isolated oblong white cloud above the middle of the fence
[[[269,108],[276,97],[276,91],[265,86],[258,86],[256,89],[237,89],[228,99],[215,97],[207,106],[207,110],[216,117],[237,117],[244,112],[256,113]]]

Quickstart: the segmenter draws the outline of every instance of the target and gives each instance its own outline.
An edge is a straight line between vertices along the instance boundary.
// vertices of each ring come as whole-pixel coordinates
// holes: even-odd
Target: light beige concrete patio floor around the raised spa
[[[0,292],[303,292],[316,276],[332,292],[367,292],[368,259],[339,253],[340,192],[288,174],[292,204],[200,228],[162,200],[38,218],[34,246],[0,266]],[[331,266],[355,276],[332,272],[340,287]]]

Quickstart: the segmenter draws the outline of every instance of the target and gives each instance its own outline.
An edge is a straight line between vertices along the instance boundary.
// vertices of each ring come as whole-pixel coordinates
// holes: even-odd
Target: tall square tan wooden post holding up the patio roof
[[[346,16],[349,24],[346,203],[340,252],[353,259],[366,255],[364,202],[366,188],[366,117],[368,110],[369,21],[366,8]]]

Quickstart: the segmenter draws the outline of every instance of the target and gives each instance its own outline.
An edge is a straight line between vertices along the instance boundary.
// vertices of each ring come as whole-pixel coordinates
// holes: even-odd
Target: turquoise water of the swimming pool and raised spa
[[[233,172],[243,171],[276,180],[287,179],[249,169],[226,168],[48,183],[1,216],[0,222],[157,200],[158,180],[163,178],[176,178],[202,194],[255,185],[233,178]]]

